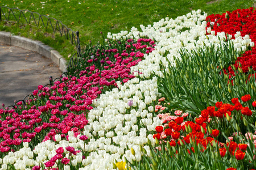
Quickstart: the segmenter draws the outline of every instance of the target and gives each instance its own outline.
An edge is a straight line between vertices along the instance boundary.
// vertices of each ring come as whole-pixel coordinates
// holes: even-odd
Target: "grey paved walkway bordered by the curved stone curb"
[[[49,83],[49,76],[59,77],[61,71],[51,59],[0,42],[0,108],[13,105],[14,100],[32,94],[39,85]]]

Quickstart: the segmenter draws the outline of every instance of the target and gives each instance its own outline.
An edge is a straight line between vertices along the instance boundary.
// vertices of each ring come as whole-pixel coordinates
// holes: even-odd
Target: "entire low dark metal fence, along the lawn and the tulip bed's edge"
[[[29,15],[29,16],[28,16]],[[46,21],[47,20],[47,21]],[[53,33],[59,33],[60,36],[64,36],[65,39],[69,40],[72,45],[76,45],[77,52],[73,54],[72,58],[68,63],[68,68],[76,66],[81,58],[81,48],[80,48],[80,39],[79,31],[72,31],[71,28],[68,28],[67,25],[64,25],[62,22],[55,18],[49,18],[46,15],[40,15],[38,12],[32,12],[29,10],[20,10],[19,8],[9,8],[5,6],[0,6],[0,22],[10,22],[10,23],[22,23],[22,24],[31,24],[39,28],[44,27],[45,29],[51,28]],[[49,84],[46,86],[51,87],[52,84],[62,78],[62,76],[67,73],[61,74],[59,78],[52,79],[52,76],[49,76]],[[44,86],[44,87],[46,87]],[[23,107],[26,106],[26,99],[33,98],[33,95],[27,95],[24,99],[14,101],[13,105],[8,106],[7,108],[15,108],[19,101],[22,101]]]

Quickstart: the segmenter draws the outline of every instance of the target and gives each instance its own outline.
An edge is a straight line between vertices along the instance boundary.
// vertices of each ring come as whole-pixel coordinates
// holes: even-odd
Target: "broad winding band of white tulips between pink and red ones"
[[[0,159],[1,169],[7,169],[7,164],[14,164],[15,169],[30,169],[34,165],[42,165],[56,155],[59,147],[64,148],[65,156],[71,159],[73,166],[82,164],[80,169],[113,169],[115,160],[119,162],[125,158],[129,161],[139,161],[143,154],[139,149],[140,145],[150,155],[149,147],[145,145],[148,139],[151,143],[155,142],[150,131],[162,125],[159,118],[154,117],[154,102],[159,96],[157,78],[154,76],[150,79],[150,76],[153,73],[162,76],[160,61],[168,67],[168,59],[172,66],[175,66],[174,57],[179,58],[179,50],[183,46],[193,50],[210,43],[219,45],[224,42],[225,33],[218,33],[218,36],[215,36],[214,31],[205,30],[206,16],[207,14],[201,15],[201,11],[197,10],[176,19],[162,19],[147,27],[141,25],[141,32],[137,28],[132,28],[131,32],[108,33],[108,39],[113,40],[139,39],[147,36],[156,41],[156,46],[152,53],[144,55],[143,61],[131,67],[132,73],[139,71],[143,74],[135,73],[137,78],[124,84],[117,82],[118,88],[101,94],[93,101],[94,109],[89,112],[89,124],[83,132],[88,136],[88,144],[79,137],[73,137],[72,132],[68,133],[68,141],[60,141],[60,136],[56,135],[58,142],[42,142],[34,150],[24,143],[24,148],[15,153],[10,152],[5,158]],[[187,30],[181,31],[183,28]],[[206,36],[206,32],[211,35]],[[240,32],[237,32],[236,39],[232,41],[237,50],[245,50],[249,45],[254,46],[249,36],[241,37]],[[129,105],[128,102],[131,100],[133,102]],[[67,146],[90,152],[90,155],[83,160],[81,152],[69,155],[65,150]],[[131,154],[130,148],[134,149],[135,155]],[[54,167],[57,167],[56,163]],[[69,166],[65,165],[64,169],[69,169]]]

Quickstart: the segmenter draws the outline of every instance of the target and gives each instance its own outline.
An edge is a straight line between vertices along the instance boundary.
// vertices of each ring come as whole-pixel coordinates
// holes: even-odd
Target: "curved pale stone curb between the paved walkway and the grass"
[[[41,41],[34,41],[25,37],[11,35],[10,32],[0,31],[0,42],[37,52],[44,57],[52,59],[62,72],[67,72],[68,66],[65,58],[63,58],[59,52],[53,50],[50,46],[43,44]]]

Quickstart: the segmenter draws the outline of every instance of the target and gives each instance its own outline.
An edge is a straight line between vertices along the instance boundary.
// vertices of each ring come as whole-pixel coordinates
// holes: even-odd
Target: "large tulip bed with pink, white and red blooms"
[[[208,18],[198,10],[109,33],[68,78],[1,109],[2,169],[256,168],[255,78],[234,69],[234,86],[223,71],[253,39],[207,35]]]

